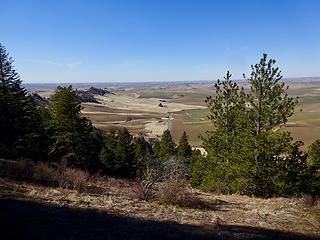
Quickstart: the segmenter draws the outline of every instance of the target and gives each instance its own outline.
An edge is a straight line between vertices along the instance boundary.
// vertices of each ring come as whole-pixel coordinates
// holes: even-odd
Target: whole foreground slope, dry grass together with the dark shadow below
[[[320,207],[190,190],[182,208],[135,197],[134,183],[96,179],[83,193],[0,178],[2,239],[320,239]]]

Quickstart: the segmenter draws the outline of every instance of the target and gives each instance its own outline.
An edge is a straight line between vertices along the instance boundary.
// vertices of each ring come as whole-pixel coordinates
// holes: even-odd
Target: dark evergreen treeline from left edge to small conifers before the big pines
[[[184,132],[176,146],[170,132],[160,141],[133,137],[127,129],[106,133],[81,116],[77,91],[58,87],[48,106],[37,105],[21,86],[13,60],[0,45],[0,157],[62,162],[123,177],[142,177],[152,161],[188,162],[192,150]]]

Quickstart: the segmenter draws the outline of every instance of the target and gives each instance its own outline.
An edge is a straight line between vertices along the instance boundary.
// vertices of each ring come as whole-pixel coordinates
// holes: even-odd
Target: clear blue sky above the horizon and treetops
[[[320,1],[0,0],[0,42],[25,83],[215,80],[262,53],[320,76]]]

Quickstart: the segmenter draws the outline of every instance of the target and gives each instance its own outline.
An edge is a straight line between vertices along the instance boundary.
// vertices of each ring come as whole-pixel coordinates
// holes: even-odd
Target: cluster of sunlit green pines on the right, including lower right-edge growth
[[[195,187],[223,193],[256,196],[320,193],[320,142],[307,153],[299,150],[290,132],[281,129],[292,116],[298,99],[288,96],[275,60],[264,54],[251,66],[240,88],[227,72],[207,97],[213,130],[202,137],[208,155],[192,163]]]

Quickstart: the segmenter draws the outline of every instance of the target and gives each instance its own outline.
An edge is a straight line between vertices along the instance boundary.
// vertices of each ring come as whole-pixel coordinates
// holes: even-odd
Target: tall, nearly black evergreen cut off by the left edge
[[[0,44],[0,157],[40,158],[45,149],[40,114],[12,64]]]

